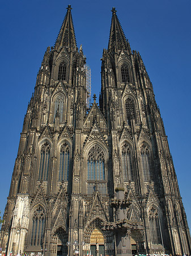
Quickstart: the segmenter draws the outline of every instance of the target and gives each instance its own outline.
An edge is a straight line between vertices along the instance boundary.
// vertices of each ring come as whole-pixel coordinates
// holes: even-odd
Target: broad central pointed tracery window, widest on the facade
[[[88,180],[105,180],[104,152],[97,145],[88,153]]]

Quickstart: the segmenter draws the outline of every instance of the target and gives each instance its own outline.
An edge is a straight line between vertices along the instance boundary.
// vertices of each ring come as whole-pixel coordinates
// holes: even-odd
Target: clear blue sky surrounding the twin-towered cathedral
[[[108,46],[111,9],[116,7],[131,49],[141,53],[152,81],[191,227],[190,0],[1,2],[1,212],[36,75],[46,47],[54,45],[67,5],[73,8],[77,44],[82,44],[91,67],[92,95],[97,96],[100,58]]]

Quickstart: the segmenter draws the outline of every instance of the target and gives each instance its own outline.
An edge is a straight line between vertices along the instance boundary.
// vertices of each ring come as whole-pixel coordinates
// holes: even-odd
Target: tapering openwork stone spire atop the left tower
[[[73,26],[73,18],[71,16],[71,5],[69,5],[66,9],[67,13],[65,15],[65,19],[63,20],[54,47],[54,49],[56,49],[57,51],[59,51],[63,46],[74,50],[77,48],[77,42],[75,40],[75,32]]]

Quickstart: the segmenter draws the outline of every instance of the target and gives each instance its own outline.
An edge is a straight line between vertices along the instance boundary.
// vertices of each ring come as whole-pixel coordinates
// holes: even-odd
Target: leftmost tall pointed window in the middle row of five
[[[45,142],[40,151],[39,180],[48,180],[50,145]]]

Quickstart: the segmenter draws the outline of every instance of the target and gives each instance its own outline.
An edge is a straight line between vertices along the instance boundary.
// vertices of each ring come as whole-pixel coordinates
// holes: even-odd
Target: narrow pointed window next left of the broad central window
[[[69,162],[70,162],[70,147],[67,143],[63,143],[60,150],[60,169],[59,180],[69,179]]]

